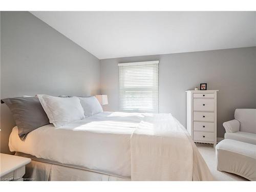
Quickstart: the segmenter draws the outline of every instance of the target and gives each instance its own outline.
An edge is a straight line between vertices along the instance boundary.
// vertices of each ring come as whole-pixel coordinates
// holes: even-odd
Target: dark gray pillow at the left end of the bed
[[[12,112],[21,140],[25,140],[28,133],[38,127],[50,124],[37,97],[15,97],[2,100]]]

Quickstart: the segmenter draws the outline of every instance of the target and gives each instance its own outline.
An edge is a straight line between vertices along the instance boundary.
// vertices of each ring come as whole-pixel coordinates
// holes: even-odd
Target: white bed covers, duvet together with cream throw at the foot
[[[184,127],[171,114],[102,112],[62,127],[39,127],[12,152],[80,165],[131,180],[212,180]]]

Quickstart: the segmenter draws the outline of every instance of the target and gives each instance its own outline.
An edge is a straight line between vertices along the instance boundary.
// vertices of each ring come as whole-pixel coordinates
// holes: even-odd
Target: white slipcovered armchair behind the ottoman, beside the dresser
[[[224,122],[225,139],[256,145],[256,109],[236,109],[234,119]]]

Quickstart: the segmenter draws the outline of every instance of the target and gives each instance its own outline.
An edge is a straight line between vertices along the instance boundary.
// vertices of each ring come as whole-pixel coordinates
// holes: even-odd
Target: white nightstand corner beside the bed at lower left
[[[0,155],[0,181],[23,181],[25,166],[31,159],[3,153]]]

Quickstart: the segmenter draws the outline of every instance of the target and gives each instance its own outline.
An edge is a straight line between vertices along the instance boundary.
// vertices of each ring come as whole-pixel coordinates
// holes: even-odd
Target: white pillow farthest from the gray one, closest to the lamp
[[[79,97],[79,99],[86,117],[103,112],[102,106],[96,97]]]

